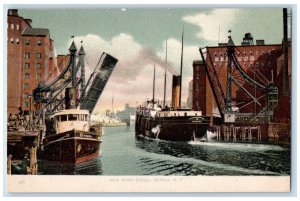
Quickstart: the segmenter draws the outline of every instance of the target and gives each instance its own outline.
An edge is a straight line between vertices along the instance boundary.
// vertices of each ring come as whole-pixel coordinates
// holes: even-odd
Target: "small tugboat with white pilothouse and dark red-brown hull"
[[[88,110],[62,110],[53,118],[55,134],[43,140],[45,160],[78,164],[99,155],[102,126],[90,126]]]

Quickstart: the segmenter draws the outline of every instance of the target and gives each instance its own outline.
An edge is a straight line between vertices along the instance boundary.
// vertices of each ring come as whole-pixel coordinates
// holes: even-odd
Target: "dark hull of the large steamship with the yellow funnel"
[[[151,118],[136,115],[136,135],[169,141],[202,138],[209,129],[209,117]]]

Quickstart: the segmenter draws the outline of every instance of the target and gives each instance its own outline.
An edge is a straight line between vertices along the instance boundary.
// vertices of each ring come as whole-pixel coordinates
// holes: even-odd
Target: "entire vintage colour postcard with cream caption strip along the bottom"
[[[8,192],[290,192],[293,11],[7,8]]]

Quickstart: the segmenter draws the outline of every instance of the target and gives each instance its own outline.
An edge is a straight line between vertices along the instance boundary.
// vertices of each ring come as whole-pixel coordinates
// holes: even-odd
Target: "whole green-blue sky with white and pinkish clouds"
[[[19,9],[32,27],[48,28],[56,54],[68,54],[71,36],[77,47],[83,40],[88,72],[102,52],[119,61],[102,93],[96,111],[121,110],[125,103],[142,104],[152,98],[156,66],[156,97],[163,99],[167,68],[167,101],[171,100],[172,74],[180,72],[181,36],[184,29],[182,101],[186,102],[192,63],[200,60],[199,47],[227,42],[228,30],[236,45],[251,32],[254,40],[280,44],[282,8],[89,8]],[[167,64],[166,58],[167,40]]]

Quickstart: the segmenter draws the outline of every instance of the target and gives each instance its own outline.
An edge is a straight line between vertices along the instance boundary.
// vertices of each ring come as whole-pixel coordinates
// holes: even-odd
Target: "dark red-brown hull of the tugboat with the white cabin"
[[[100,154],[100,135],[71,130],[49,135],[43,140],[42,157],[47,161],[79,164]]]

